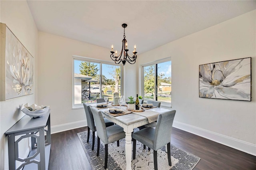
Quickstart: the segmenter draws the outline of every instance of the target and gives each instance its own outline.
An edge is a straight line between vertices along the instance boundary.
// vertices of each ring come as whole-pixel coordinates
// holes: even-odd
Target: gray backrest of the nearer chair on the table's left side
[[[101,111],[99,109],[92,107],[92,115],[94,117],[94,121],[96,124],[97,136],[100,137],[100,139],[104,144],[107,144],[108,136],[107,136],[106,124],[104,122],[104,118],[102,116]]]

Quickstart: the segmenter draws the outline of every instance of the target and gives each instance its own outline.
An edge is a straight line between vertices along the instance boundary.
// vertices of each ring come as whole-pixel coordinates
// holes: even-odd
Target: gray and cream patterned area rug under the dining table
[[[136,131],[136,129],[134,130]],[[95,133],[95,136],[97,134]],[[95,138],[94,150],[92,150],[92,132],[87,143],[87,131],[78,133],[80,142],[84,148],[84,152],[90,162],[93,170],[104,170],[104,143],[100,143],[100,155],[97,152],[97,137]],[[171,161],[169,166],[165,146],[157,151],[158,170],[192,170],[199,162],[200,158],[185,150],[182,150],[171,144]],[[120,140],[120,146],[117,147],[116,142],[108,144],[108,170],[125,170],[125,139]],[[143,144],[136,142],[136,159],[132,160],[133,170],[153,170],[154,157],[153,150],[143,149]]]

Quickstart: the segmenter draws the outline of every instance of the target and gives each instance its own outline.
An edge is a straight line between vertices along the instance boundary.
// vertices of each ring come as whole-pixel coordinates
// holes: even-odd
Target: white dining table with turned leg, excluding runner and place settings
[[[95,107],[99,103],[92,103],[89,104],[90,107]],[[114,106],[113,106],[114,107]],[[135,113],[129,113],[126,115],[120,115],[120,116],[112,116],[108,113],[105,113],[104,111],[108,111],[108,108],[106,109],[99,109],[103,116],[109,119],[110,121],[116,123],[117,125],[124,128],[125,132],[125,156],[126,156],[126,170],[131,170],[131,162],[132,162],[132,132],[133,129],[136,127],[140,127],[142,125],[148,124],[148,119],[144,116],[137,115]],[[157,113],[164,113],[166,111],[169,111],[168,109],[156,107],[149,109],[150,111],[154,111]]]

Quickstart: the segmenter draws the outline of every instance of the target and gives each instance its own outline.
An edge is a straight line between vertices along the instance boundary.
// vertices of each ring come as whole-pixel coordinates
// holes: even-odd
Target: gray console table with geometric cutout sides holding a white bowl
[[[46,135],[45,135],[46,132]],[[30,118],[25,115],[5,132],[8,136],[8,154],[10,170],[47,170],[51,150],[50,109],[42,117]],[[18,136],[20,135],[20,136]],[[15,139],[15,136],[18,136]],[[31,138],[31,151],[27,158],[19,157],[18,142]],[[16,160],[22,164],[16,168]]]

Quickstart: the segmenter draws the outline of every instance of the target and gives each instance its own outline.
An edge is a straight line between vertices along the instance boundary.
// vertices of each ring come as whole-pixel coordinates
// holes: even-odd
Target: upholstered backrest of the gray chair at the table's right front
[[[171,110],[158,115],[153,142],[154,150],[158,150],[170,142],[175,113],[176,110]]]

